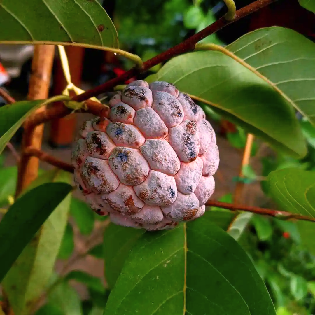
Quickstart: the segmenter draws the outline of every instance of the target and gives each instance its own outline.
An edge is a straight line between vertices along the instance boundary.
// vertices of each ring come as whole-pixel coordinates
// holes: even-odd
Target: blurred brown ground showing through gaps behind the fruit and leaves
[[[15,95],[14,92],[11,92],[11,94],[17,99],[21,99],[21,95]],[[83,122],[90,117],[93,117],[90,114],[77,114],[77,130],[80,128],[80,126],[83,124]],[[242,150],[236,149],[231,147],[229,142],[219,135],[219,126],[215,122],[210,122],[217,134],[217,145],[219,147],[220,151],[220,166],[218,171],[215,174],[215,193],[213,195],[214,199],[220,198],[221,196],[227,194],[227,193],[233,193],[235,188],[235,182],[233,181],[234,176],[238,176],[239,170],[240,170],[240,164],[242,159]],[[47,152],[50,155],[53,155],[54,157],[57,157],[58,159],[61,159],[66,162],[70,162],[70,155],[71,155],[71,148],[52,148],[48,144],[48,138],[49,138],[49,124],[46,124],[45,130],[44,130],[44,138],[43,138],[43,145],[42,150],[44,152]],[[15,145],[15,148],[17,151],[20,150],[19,146]],[[12,166],[15,165],[15,159],[12,156],[11,152],[6,149],[5,152],[5,165],[6,166]],[[251,161],[252,167],[258,171],[259,174],[259,168],[260,164],[252,159]],[[40,162],[40,168],[42,169],[51,169],[52,166]],[[77,198],[82,198],[79,190],[75,192],[75,196]],[[257,205],[261,206],[266,200],[266,197],[264,197],[263,193],[261,192],[259,183],[254,183],[250,185],[246,185],[243,190],[243,203],[246,203],[248,205]],[[84,258],[78,258],[80,253],[84,252],[87,247],[87,241],[91,240],[91,238],[88,240],[87,237],[83,237],[79,234],[78,229],[75,225],[73,225],[74,228],[74,234],[75,234],[75,250],[73,253],[73,256],[70,258],[70,260],[67,261],[61,261],[59,260],[56,264],[56,270],[57,272],[60,272],[62,270],[63,272],[67,272],[74,269],[83,270],[86,272],[89,272],[93,276],[100,277],[104,279],[104,266],[103,261],[96,259],[93,256],[87,255]],[[93,243],[101,243],[102,242],[102,232],[104,229],[104,225],[100,221],[95,222],[95,231],[93,232]],[[70,261],[70,263],[69,263]],[[70,265],[70,266],[69,266]],[[84,288],[84,286],[76,283],[75,287],[78,289],[81,297],[84,299],[86,297],[87,292]]]

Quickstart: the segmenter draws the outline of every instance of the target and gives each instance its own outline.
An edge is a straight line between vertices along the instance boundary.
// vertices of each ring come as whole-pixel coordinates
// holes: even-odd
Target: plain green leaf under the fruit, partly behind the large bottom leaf
[[[109,288],[113,288],[129,256],[130,249],[145,232],[143,229],[119,226],[110,223],[104,232],[105,278]]]

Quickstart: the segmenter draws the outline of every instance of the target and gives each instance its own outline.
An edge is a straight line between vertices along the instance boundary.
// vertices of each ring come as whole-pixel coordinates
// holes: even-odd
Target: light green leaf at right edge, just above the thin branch
[[[279,169],[268,175],[272,198],[288,212],[315,217],[315,172]]]

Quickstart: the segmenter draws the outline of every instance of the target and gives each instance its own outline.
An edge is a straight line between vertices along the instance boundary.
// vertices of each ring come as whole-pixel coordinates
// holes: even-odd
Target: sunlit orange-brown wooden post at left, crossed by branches
[[[35,45],[29,92],[27,95],[28,100],[44,100],[48,98],[54,53],[54,45]],[[44,110],[45,107],[43,106],[39,108],[37,112],[42,112]],[[19,176],[15,193],[16,196],[19,195],[20,192],[33,180],[35,180],[38,174],[38,158],[30,157],[29,155],[24,154],[24,151],[28,146],[32,146],[40,150],[43,139],[43,124],[34,129],[30,129],[27,126],[26,120],[24,127]]]

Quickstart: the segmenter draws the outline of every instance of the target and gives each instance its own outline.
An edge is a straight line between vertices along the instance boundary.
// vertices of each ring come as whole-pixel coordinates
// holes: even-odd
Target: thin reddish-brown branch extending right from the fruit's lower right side
[[[265,208],[259,208],[259,207],[249,207],[245,205],[236,205],[231,203],[225,203],[221,201],[216,200],[208,200],[206,202],[206,206],[211,207],[218,207],[223,209],[228,209],[231,211],[245,211],[245,212],[252,212],[256,213],[258,215],[269,215],[278,219],[282,220],[289,220],[289,219],[295,219],[295,220],[302,220],[302,221],[310,221],[315,222],[315,218],[308,217],[306,215],[298,215],[290,212],[285,211],[278,211],[278,210],[272,210],[272,209],[265,209]]]

